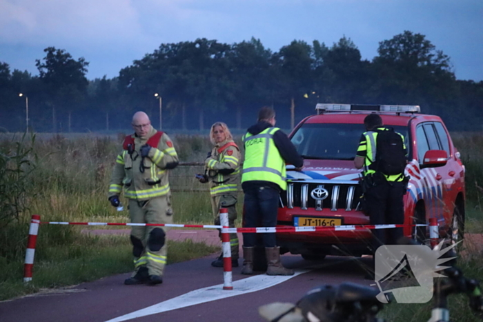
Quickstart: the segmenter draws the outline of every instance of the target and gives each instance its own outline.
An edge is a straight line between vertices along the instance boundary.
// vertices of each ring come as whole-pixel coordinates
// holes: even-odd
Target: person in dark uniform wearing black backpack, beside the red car
[[[402,134],[384,127],[379,114],[368,114],[364,119],[367,132],[359,142],[354,159],[355,168],[364,168],[362,190],[364,208],[371,225],[404,223],[403,196],[407,178],[404,168],[407,163],[406,145]],[[384,139],[391,137],[392,140]],[[377,152],[377,153],[376,153]],[[371,251],[375,254],[381,245],[397,244],[404,234],[402,228],[373,230]],[[374,265],[374,259],[373,263]],[[369,268],[366,279],[374,279],[373,268]]]

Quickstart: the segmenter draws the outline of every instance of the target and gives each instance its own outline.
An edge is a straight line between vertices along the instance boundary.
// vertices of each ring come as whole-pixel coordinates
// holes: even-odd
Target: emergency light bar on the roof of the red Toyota
[[[359,105],[359,104],[326,104],[318,103],[315,106],[317,114],[324,112],[393,112],[393,113],[419,113],[419,105]]]

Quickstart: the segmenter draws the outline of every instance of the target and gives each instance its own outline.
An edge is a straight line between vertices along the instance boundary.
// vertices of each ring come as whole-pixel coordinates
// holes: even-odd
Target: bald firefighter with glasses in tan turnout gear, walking
[[[144,112],[132,117],[135,134],[124,139],[109,183],[108,199],[118,207],[124,187],[132,223],[172,223],[168,170],[178,165],[171,139],[152,128]],[[132,226],[130,240],[135,270],[126,285],[163,283],[168,248],[164,226]]]

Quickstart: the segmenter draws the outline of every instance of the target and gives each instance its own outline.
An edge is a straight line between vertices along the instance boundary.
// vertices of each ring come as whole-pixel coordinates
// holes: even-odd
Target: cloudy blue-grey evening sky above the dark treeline
[[[0,0],[0,61],[37,75],[54,46],[84,57],[88,79],[112,78],[161,43],[255,37],[277,51],[344,35],[371,60],[404,30],[448,55],[457,79],[483,80],[483,0]]]

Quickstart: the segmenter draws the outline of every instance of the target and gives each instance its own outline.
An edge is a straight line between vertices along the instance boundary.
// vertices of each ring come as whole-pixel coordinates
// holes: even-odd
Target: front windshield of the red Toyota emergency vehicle
[[[408,147],[407,127],[387,125],[404,135]],[[304,159],[353,160],[364,124],[348,123],[305,123],[290,141]]]

